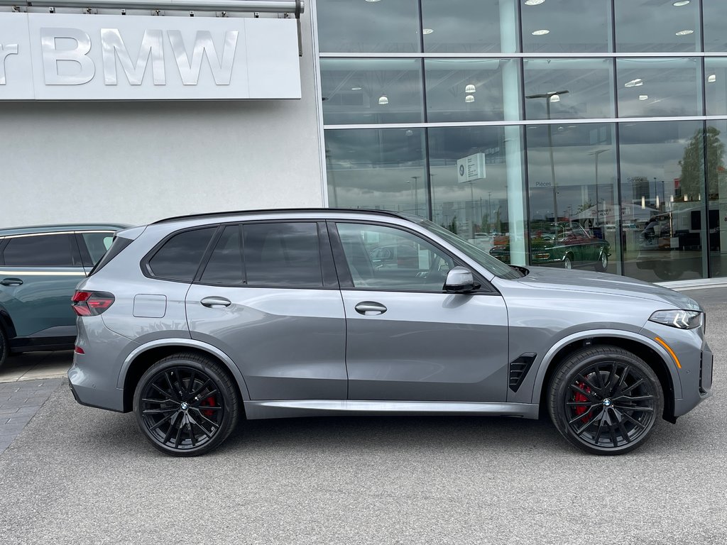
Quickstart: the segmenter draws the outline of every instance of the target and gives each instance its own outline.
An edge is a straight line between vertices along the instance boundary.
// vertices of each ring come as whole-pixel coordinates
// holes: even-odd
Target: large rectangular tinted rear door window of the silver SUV
[[[243,233],[249,286],[323,286],[315,223],[251,224]]]

